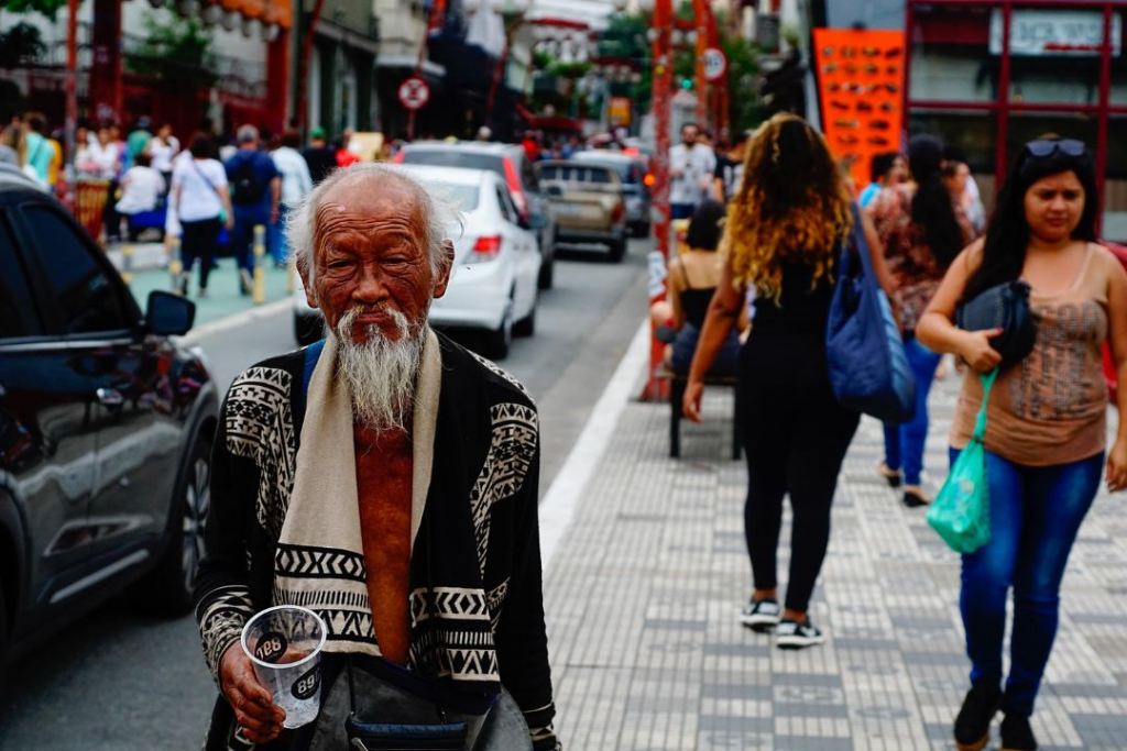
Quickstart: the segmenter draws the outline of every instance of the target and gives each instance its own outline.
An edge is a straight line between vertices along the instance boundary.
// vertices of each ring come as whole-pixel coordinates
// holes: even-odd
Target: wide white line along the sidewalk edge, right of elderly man
[[[595,467],[606,454],[619,418],[637,384],[638,374],[649,357],[649,321],[644,321],[540,503],[540,560],[544,571],[571,526],[580,493],[587,488]]]

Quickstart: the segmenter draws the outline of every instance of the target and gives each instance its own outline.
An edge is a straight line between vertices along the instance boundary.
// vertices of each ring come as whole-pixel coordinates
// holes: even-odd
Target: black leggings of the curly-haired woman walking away
[[[829,544],[837,473],[860,415],[837,404],[828,383],[804,387],[740,378],[738,400],[748,475],[744,534],[755,588],[774,589],[779,583],[782,499],[790,495],[786,606],[805,613]]]

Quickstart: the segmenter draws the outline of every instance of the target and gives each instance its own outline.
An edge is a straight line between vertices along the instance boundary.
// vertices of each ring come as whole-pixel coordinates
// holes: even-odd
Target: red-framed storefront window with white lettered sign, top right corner
[[[1121,24],[1112,24],[1112,54]],[[1095,105],[1100,99],[1103,11],[1015,8],[1010,21],[1010,101]],[[991,14],[990,52],[1002,54],[1002,11]]]

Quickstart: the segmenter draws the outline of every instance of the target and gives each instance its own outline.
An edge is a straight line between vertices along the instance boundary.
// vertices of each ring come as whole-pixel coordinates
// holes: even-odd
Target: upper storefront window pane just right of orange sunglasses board
[[[917,101],[987,102],[997,98],[999,57],[987,54],[988,8],[921,6],[911,30],[908,81]]]

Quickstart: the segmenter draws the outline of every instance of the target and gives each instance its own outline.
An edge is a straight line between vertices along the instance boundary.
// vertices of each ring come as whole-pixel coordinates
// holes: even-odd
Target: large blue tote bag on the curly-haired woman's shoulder
[[[877,284],[857,205],[842,241],[837,285],[826,325],[829,383],[837,401],[886,422],[915,414],[915,379],[885,290]],[[853,251],[853,252],[851,252]],[[860,268],[854,256],[861,259]]]

